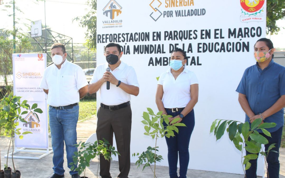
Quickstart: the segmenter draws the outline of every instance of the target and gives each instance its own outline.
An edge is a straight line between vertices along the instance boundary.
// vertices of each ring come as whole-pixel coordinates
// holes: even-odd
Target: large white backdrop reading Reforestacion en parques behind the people
[[[266,1],[98,1],[97,64],[106,62],[104,46],[119,43],[124,52],[121,60],[135,68],[140,84],[139,96],[131,99],[131,153],[154,147],[154,141],[143,134],[141,116],[146,107],[158,111],[156,77],[169,68],[170,52],[182,48],[188,56],[186,68],[199,80],[188,168],[243,174],[241,154],[227,134],[216,142],[209,130],[215,119],[244,122],[235,90],[244,70],[255,64],[255,42],[265,36]],[[158,164],[168,166],[164,138],[158,146],[164,158]],[[264,173],[263,165],[260,159],[258,175]]]

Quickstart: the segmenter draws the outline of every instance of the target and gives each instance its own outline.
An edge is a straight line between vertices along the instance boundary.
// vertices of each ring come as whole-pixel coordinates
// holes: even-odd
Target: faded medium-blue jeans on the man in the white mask
[[[54,152],[52,161],[54,164],[54,173],[58,175],[64,174],[63,154],[64,142],[66,146],[66,158],[68,168],[69,163],[73,162],[72,156],[77,152],[77,148],[73,146],[77,144],[76,125],[78,121],[79,106],[76,105],[71,109],[54,109],[48,108],[50,118],[50,133],[52,136],[52,149]],[[78,171],[69,171],[70,175],[78,173]]]

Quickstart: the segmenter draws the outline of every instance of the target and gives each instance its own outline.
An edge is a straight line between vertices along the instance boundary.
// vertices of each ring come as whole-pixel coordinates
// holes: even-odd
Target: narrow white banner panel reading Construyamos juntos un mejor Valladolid
[[[48,148],[48,123],[46,94],[38,86],[46,68],[46,54],[13,54],[14,95],[27,100],[32,107],[34,103],[43,113],[39,119],[32,113],[23,115],[27,123],[19,122],[20,132],[29,131],[23,139],[15,139],[15,147]]]

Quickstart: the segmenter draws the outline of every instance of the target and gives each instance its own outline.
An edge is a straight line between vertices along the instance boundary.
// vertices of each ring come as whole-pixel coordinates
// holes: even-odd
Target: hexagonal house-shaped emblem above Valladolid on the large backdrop
[[[122,9],[122,7],[115,0],[111,0],[104,7],[103,15],[105,15],[106,17],[109,17],[111,20],[113,20],[122,13],[121,9]]]

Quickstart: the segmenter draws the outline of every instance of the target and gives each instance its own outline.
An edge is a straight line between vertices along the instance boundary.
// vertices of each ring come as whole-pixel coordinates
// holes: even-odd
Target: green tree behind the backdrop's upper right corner
[[[277,34],[280,27],[276,25],[276,21],[285,18],[285,0],[267,0],[266,5],[266,33]]]

